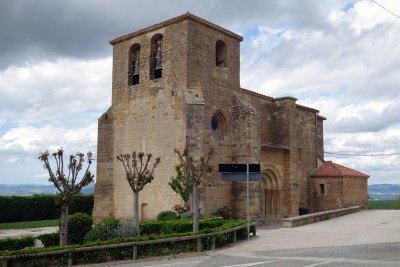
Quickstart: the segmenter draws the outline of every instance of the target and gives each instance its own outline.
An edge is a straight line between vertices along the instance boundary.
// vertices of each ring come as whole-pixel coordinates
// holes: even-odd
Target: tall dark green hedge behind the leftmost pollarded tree
[[[92,214],[93,195],[75,195],[69,213]],[[0,223],[51,220],[60,217],[57,195],[0,196]]]

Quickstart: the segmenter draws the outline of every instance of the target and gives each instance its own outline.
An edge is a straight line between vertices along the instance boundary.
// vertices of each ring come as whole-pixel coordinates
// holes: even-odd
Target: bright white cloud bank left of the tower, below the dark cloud
[[[79,124],[91,110],[111,103],[110,88],[111,58],[10,67],[0,72],[0,115],[20,126],[60,120]]]

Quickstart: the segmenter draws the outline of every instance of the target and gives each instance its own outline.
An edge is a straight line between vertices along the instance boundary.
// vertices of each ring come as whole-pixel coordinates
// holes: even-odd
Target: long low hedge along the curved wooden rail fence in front
[[[88,242],[83,245],[73,245],[73,246],[56,246],[49,248],[31,248],[19,251],[4,251],[0,252],[1,255],[19,255],[17,258],[9,259],[8,266],[66,266],[68,264],[68,253],[63,253],[59,255],[47,255],[45,257],[27,257],[27,254],[37,254],[41,252],[50,252],[56,250],[74,249],[79,247],[93,247],[99,245],[110,245],[125,242],[135,242],[135,241],[146,241],[146,240],[156,240],[165,239],[170,237],[183,237],[202,233],[218,232],[226,229],[230,229],[236,226],[245,224],[244,220],[237,221],[225,221],[223,225],[216,227],[214,229],[204,229],[198,232],[188,232],[188,233],[174,233],[168,235],[149,235],[149,236],[137,236],[130,238],[118,238],[107,241],[97,241]],[[252,231],[255,232],[255,226],[252,226]],[[247,235],[247,228],[243,228],[237,231],[237,240],[245,239]],[[233,241],[233,233],[227,234],[217,234],[216,235],[216,246],[224,246],[227,243]],[[204,250],[212,249],[212,237],[201,238],[202,247]],[[192,252],[197,250],[197,240],[187,240],[179,242],[167,242],[159,244],[148,244],[141,245],[138,250],[138,258],[145,258],[151,256],[162,256],[171,255],[183,252]],[[73,264],[88,264],[88,263],[100,263],[107,261],[116,260],[126,260],[132,259],[132,247],[125,248],[110,248],[99,251],[86,251],[86,252],[74,252],[73,253]]]

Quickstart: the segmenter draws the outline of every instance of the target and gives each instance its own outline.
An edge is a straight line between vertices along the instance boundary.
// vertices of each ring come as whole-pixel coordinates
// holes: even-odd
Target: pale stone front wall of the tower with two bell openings
[[[135,150],[161,157],[154,181],[139,194],[141,219],[154,218],[160,211],[181,203],[168,182],[177,164],[174,148],[185,147],[183,95],[187,88],[187,24],[187,21],[181,21],[113,47],[112,175],[103,179],[106,174],[99,173],[98,179],[110,180],[114,185],[109,197],[113,199],[113,215],[117,218],[133,216],[133,194],[123,167],[116,160],[120,153]],[[159,33],[163,34],[163,74],[162,78],[151,80],[150,43],[152,36]],[[140,44],[140,83],[129,86],[128,55],[135,43]],[[100,169],[103,168],[101,165]],[[100,198],[101,195],[96,197]]]

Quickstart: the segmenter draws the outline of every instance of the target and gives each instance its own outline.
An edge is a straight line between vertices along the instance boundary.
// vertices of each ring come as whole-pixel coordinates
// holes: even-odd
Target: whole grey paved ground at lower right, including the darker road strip
[[[366,210],[296,228],[259,229],[250,241],[197,256],[93,266],[400,266],[400,211]]]

